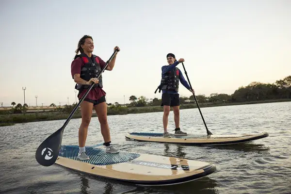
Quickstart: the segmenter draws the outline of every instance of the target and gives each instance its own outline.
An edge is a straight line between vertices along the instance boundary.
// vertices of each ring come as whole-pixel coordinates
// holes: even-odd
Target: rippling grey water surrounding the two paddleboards
[[[9,194],[291,194],[291,102],[201,109],[213,134],[266,131],[269,137],[231,146],[182,146],[126,141],[133,131],[162,132],[162,113],[108,116],[112,142],[125,151],[181,157],[216,164],[217,171],[182,185],[142,187],[96,178],[59,165],[44,167],[34,157],[39,144],[65,120],[0,127],[0,193]],[[65,128],[63,144],[78,144],[81,119]],[[180,127],[206,134],[198,109],[180,111]],[[173,112],[169,128],[174,129]],[[87,145],[102,143],[97,117]]]

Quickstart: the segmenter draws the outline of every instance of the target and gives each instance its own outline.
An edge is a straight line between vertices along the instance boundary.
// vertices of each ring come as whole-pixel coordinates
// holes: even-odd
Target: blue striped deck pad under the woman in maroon
[[[59,156],[64,158],[69,158],[76,161],[81,161],[78,159],[79,146],[61,146]],[[109,165],[122,162],[129,162],[133,159],[140,157],[140,154],[119,151],[119,153],[107,153],[105,149],[97,148],[96,146],[86,146],[86,153],[90,160],[85,160],[81,162],[86,162],[94,165]]]

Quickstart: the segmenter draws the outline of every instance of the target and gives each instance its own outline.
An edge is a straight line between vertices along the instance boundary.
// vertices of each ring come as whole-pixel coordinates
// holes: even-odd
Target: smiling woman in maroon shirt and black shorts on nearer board
[[[81,103],[81,115],[82,121],[79,128],[79,154],[80,160],[89,160],[89,156],[86,154],[85,142],[87,138],[87,131],[92,117],[92,110],[95,109],[98,120],[100,123],[101,134],[104,139],[104,146],[106,146],[106,152],[117,153],[118,149],[111,145],[110,129],[107,123],[107,104],[102,83],[102,76],[97,80],[98,74],[105,66],[105,62],[98,56],[93,55],[94,50],[93,38],[88,35],[84,35],[76,49],[76,56],[71,64],[71,74],[74,81],[77,83],[75,88],[79,90],[78,98],[86,93],[91,84],[95,83],[94,87],[89,91],[88,95]],[[118,47],[114,48],[114,51],[119,51]],[[78,55],[80,51],[80,55]],[[116,55],[113,57],[106,70],[111,71],[115,64]]]

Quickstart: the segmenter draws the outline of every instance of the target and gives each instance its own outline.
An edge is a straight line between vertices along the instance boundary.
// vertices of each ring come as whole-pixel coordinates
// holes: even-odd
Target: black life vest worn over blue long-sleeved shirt
[[[164,77],[162,77],[161,84],[156,89],[155,93],[161,93],[161,90],[172,90],[172,91],[179,91],[179,69],[175,67],[171,71],[168,71]]]

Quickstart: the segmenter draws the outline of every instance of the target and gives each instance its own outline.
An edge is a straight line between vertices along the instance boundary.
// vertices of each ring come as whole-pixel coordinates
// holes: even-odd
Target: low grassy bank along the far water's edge
[[[234,106],[244,104],[259,104],[259,103],[272,103],[272,102],[287,102],[291,99],[277,99],[277,100],[263,100],[263,101],[250,101],[241,103],[201,103],[200,108],[203,107],[215,107],[215,106]],[[197,108],[196,104],[182,104],[180,109],[193,109]],[[108,115],[121,115],[121,114],[133,114],[133,113],[154,113],[162,112],[161,106],[147,106],[147,107],[109,107]],[[44,113],[26,113],[26,114],[3,114],[0,115],[0,126],[14,125],[15,123],[26,123],[35,121],[48,121],[48,120],[61,120],[66,119],[70,113],[62,112],[44,112]],[[94,112],[93,117],[97,114]],[[81,118],[80,111],[77,111],[72,118]]]

